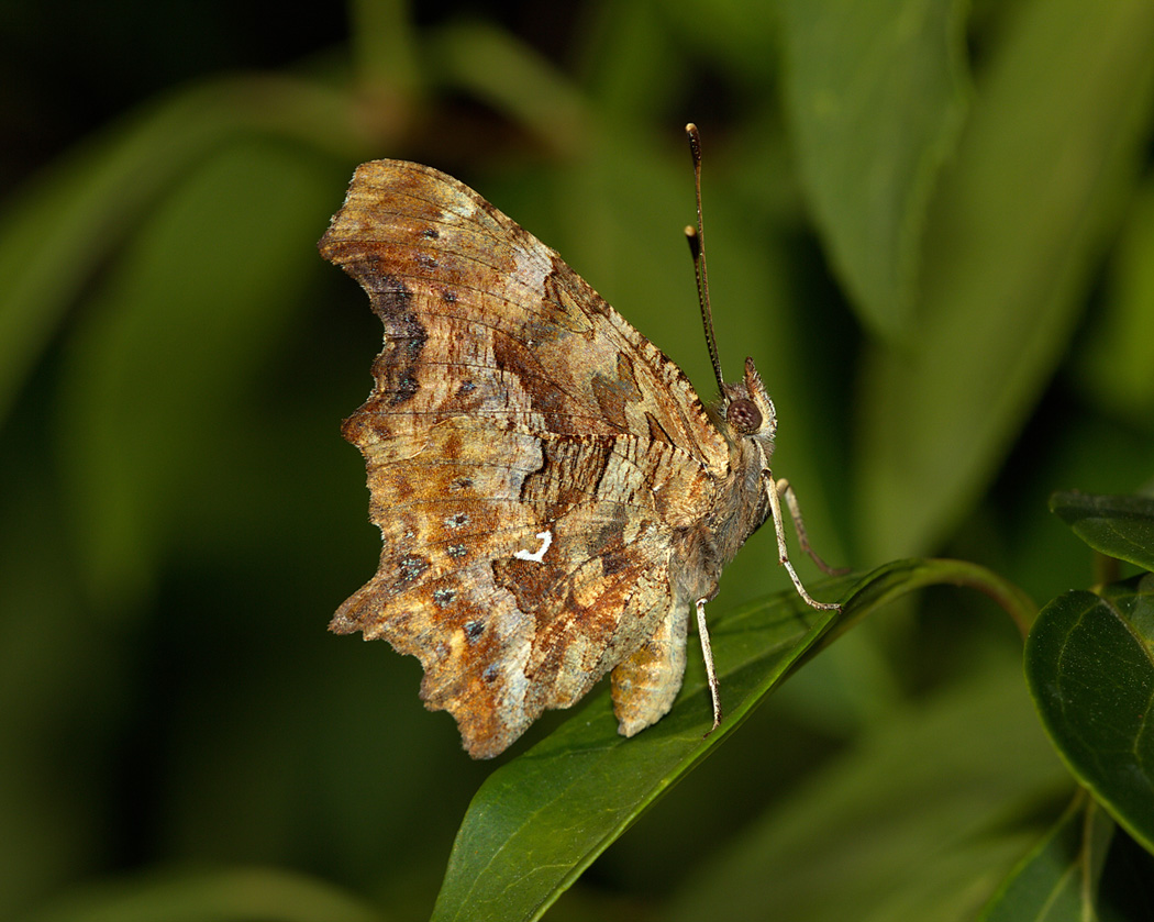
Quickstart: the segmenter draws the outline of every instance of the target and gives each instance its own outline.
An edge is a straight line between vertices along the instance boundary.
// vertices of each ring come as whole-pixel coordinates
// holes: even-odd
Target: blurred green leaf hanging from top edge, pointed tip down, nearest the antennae
[[[937,171],[965,113],[959,0],[790,0],[786,102],[826,249],[862,320],[901,338]]]

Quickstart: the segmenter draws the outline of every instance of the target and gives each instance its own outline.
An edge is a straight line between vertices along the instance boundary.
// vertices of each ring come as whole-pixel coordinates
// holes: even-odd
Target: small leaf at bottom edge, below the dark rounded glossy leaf
[[[1013,869],[981,922],[1082,922],[1094,914],[1114,822],[1080,794]]]

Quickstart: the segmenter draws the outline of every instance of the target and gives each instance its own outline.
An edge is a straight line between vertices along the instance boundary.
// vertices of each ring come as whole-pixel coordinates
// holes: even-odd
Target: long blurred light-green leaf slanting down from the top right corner
[[[863,365],[855,466],[870,554],[932,546],[1065,354],[1149,133],[1154,3],[1024,0],[975,74],[929,209],[911,348]]]

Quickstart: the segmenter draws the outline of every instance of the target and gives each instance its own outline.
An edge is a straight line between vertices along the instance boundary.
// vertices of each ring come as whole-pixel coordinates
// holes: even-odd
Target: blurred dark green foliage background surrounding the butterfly
[[[1049,493],[1151,485],[1146,2],[9,0],[0,72],[0,919],[432,909],[494,765],[325,631],[379,553],[339,421],[380,323],[315,250],[362,160],[477,188],[707,398],[696,121],[722,362],[832,562],[1043,602],[1095,578]],[[894,606],[549,917],[972,916],[1070,790],[1020,644]]]

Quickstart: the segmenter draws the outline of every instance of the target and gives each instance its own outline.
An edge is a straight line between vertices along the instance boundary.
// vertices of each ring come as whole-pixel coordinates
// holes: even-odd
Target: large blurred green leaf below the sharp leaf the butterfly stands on
[[[1016,658],[974,664],[794,779],[661,919],[968,922],[1049,825],[1040,790],[1064,785]]]

